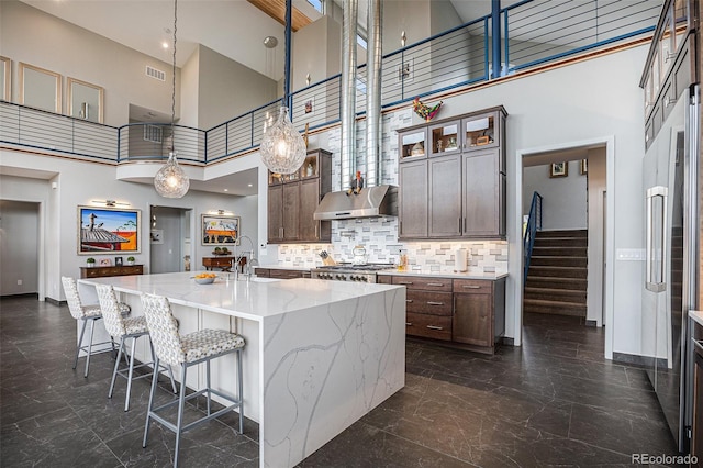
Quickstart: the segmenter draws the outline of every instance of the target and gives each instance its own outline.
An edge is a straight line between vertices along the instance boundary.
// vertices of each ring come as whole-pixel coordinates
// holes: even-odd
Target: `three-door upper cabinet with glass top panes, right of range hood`
[[[498,107],[399,131],[400,238],[505,237],[506,116]]]

